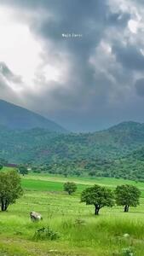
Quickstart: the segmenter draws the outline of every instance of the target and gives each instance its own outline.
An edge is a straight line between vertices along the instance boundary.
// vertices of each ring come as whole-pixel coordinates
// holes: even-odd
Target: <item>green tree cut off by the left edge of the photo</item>
[[[16,171],[0,172],[0,206],[2,211],[6,211],[9,204],[13,204],[16,199],[23,194],[20,184],[20,175]]]

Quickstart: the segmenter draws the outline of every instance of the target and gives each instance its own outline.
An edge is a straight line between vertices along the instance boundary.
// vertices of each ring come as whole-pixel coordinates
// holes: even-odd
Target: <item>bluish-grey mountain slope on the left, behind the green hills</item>
[[[39,127],[48,131],[66,132],[63,127],[55,124],[55,122],[3,100],[0,100],[0,125],[11,129],[26,130]]]

